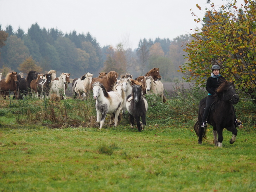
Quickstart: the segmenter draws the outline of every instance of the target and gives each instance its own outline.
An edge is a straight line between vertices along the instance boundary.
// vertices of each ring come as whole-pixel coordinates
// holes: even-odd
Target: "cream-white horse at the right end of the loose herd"
[[[161,81],[154,81],[152,76],[145,77],[145,81],[147,94],[156,94],[164,99],[164,85]]]

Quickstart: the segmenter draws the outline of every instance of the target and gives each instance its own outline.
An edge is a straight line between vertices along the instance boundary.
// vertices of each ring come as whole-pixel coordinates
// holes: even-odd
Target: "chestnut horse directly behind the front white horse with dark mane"
[[[103,86],[105,87],[106,91],[110,92],[110,91],[112,91],[112,88],[113,88],[114,84],[118,80],[117,78],[118,78],[118,73],[116,73],[115,71],[110,71],[103,78],[94,77],[94,78],[92,78],[91,88],[93,87],[93,84],[95,82],[100,82],[100,83],[103,84]]]

